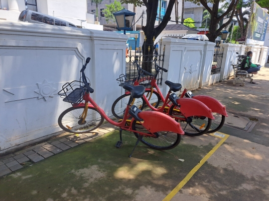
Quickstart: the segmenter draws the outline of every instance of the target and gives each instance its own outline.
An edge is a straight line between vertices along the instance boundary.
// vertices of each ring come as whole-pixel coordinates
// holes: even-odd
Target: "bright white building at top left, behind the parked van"
[[[87,13],[87,0],[0,0],[0,19],[18,21],[22,10],[28,9],[63,19],[76,26],[103,30],[94,24],[94,15]]]

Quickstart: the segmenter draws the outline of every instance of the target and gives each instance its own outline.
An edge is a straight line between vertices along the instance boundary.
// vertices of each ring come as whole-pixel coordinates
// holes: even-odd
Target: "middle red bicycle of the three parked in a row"
[[[137,62],[138,58],[135,58],[134,64],[136,64],[138,77],[135,78],[133,84],[138,85],[142,83],[143,85],[146,85],[146,87],[150,86],[151,88],[146,88],[143,97],[134,102],[136,107],[140,107],[140,109],[142,110],[147,105],[153,111],[161,112],[171,116],[177,122],[181,122],[181,126],[182,128],[184,128],[183,130],[185,134],[190,136],[198,136],[205,134],[210,129],[211,121],[212,119],[214,119],[214,116],[212,115],[211,110],[204,103],[195,99],[179,99],[175,93],[172,93],[172,91],[179,91],[182,85],[178,83],[172,83],[170,81],[165,81],[165,84],[167,84],[170,89],[164,99],[157,86],[156,80],[157,74],[160,69],[165,72],[167,72],[167,70],[165,68],[158,67],[155,69],[155,75],[152,75],[151,73],[141,69]],[[128,82],[128,84],[130,84],[130,81]],[[125,110],[123,109],[126,104],[125,101],[129,97],[130,93],[126,92],[114,102],[114,104],[112,105],[112,113],[115,117],[122,119],[125,114]],[[163,101],[163,105],[158,107],[160,100]],[[179,107],[180,110],[178,110]],[[178,113],[176,115],[169,114],[170,110],[177,111]],[[179,113],[181,115],[178,115]]]

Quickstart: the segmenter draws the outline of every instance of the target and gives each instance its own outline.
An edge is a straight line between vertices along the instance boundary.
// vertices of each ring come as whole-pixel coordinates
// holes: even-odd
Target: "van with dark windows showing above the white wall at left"
[[[37,23],[37,24],[50,24],[55,26],[69,26],[77,28],[75,24],[72,24],[68,21],[50,15],[46,15],[40,12],[35,12],[33,10],[22,10],[18,17],[18,21]]]

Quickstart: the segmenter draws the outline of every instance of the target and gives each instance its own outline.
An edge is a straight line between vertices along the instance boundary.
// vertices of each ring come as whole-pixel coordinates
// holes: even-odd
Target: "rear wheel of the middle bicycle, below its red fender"
[[[171,106],[171,108],[169,109],[168,114],[170,116],[177,115],[177,116],[183,117],[183,115],[180,112],[177,112],[176,110],[173,111],[174,107],[175,107],[175,105]],[[210,127],[211,127],[212,119],[210,119],[210,118],[196,117],[196,116],[187,117],[187,118],[192,119],[191,123],[187,123],[186,122],[187,118],[186,117],[184,117],[184,118],[185,118],[185,121],[181,120],[180,121],[181,122],[180,126],[184,130],[185,135],[188,135],[188,136],[200,136],[202,134],[208,133],[208,131],[209,131]]]

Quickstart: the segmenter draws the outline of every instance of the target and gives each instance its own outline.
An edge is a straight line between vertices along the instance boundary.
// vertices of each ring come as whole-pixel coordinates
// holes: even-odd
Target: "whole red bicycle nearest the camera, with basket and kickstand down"
[[[184,134],[180,124],[167,115],[155,111],[141,111],[135,105],[131,106],[134,98],[140,98],[144,94],[145,87],[142,85],[123,86],[125,90],[130,92],[126,106],[128,112],[124,114],[123,120],[119,123],[111,120],[90,97],[90,93],[93,93],[94,89],[90,87],[90,80],[84,73],[89,62],[90,58],[87,58],[85,65],[80,70],[82,82],[80,80],[66,83],[58,93],[64,97],[63,101],[72,104],[72,107],[65,110],[58,119],[58,124],[64,131],[77,134],[89,133],[100,127],[105,119],[110,124],[120,128],[120,140],[116,147],[120,148],[123,144],[123,130],[133,132],[136,136],[137,141],[134,149],[139,141],[158,150],[171,149],[178,145],[181,134]],[[132,119],[127,124],[126,121],[130,117]],[[134,149],[129,157],[132,156]]]

